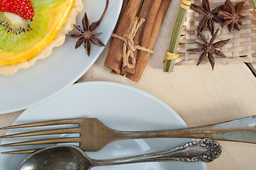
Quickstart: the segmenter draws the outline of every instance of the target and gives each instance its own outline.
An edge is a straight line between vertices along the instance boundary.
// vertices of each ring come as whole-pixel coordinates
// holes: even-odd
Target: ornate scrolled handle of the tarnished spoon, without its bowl
[[[92,166],[111,166],[140,162],[212,162],[221,155],[221,152],[222,147],[218,142],[205,138],[199,142],[189,142],[179,147],[160,152],[151,152],[118,159],[91,159],[90,163]]]

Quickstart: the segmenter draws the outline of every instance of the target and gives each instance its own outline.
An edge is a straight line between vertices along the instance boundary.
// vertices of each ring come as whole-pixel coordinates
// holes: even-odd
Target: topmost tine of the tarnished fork
[[[36,122],[36,123],[26,123],[21,125],[11,125],[0,128],[0,130],[8,130],[8,129],[15,129],[15,128],[31,128],[31,127],[38,127],[38,126],[48,126],[48,125],[64,125],[64,124],[77,124],[79,123],[80,119],[66,119],[66,120],[50,120],[50,121],[43,121],[43,122]]]

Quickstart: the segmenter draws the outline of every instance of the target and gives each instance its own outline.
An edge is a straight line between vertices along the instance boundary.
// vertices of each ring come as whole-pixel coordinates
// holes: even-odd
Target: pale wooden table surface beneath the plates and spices
[[[138,83],[110,74],[110,70],[104,67],[109,43],[96,63],[78,82],[115,81],[148,91],[173,108],[189,127],[256,115],[256,78],[244,63],[216,64],[214,71],[211,71],[209,63],[198,67],[193,64],[172,73],[162,71],[177,5],[179,1],[173,0],[155,43],[156,52],[150,57]],[[0,127],[11,125],[21,113],[18,111],[0,115]],[[0,135],[5,132],[1,131]],[[220,143],[223,154],[207,164],[208,170],[256,169],[256,145]]]

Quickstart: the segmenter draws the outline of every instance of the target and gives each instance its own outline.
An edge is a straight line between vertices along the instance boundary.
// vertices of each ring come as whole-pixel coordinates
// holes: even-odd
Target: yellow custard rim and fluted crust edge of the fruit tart
[[[66,0],[55,8],[48,8],[48,28],[45,37],[23,52],[0,50],[0,73],[11,75],[20,68],[32,66],[36,60],[48,57],[53,47],[62,45],[65,35],[73,29],[81,0]]]

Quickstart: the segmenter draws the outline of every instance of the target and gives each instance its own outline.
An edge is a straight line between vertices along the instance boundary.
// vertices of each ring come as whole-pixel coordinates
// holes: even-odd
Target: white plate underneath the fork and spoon
[[[50,100],[24,111],[14,124],[67,118],[98,118],[104,125],[116,130],[163,130],[186,127],[186,124],[177,113],[154,96],[131,86],[104,81],[75,84],[57,96],[50,98]],[[24,132],[24,129],[10,130],[8,133],[13,132]],[[55,137],[60,136],[56,135]],[[27,139],[37,140],[38,137],[28,137]],[[3,140],[3,143],[18,141],[20,140],[8,139]],[[123,140],[112,142],[99,152],[86,153],[94,159],[109,159],[167,149],[190,141],[192,140]],[[0,152],[12,149],[2,147],[0,148]],[[19,147],[18,149],[25,148]],[[27,154],[0,154],[0,169],[17,169],[18,164],[26,156]],[[11,164],[9,164],[10,159],[13,162]],[[206,165],[201,162],[164,162],[97,167],[95,169],[206,170]]]

